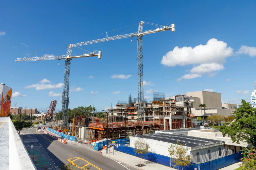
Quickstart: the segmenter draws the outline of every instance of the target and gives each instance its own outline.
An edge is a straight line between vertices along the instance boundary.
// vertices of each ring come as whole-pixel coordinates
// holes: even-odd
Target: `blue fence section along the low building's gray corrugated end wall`
[[[233,163],[237,163],[242,158],[242,151],[239,151],[232,155],[228,155],[219,159],[215,159],[205,163],[200,163],[200,170],[217,170],[229,166]]]

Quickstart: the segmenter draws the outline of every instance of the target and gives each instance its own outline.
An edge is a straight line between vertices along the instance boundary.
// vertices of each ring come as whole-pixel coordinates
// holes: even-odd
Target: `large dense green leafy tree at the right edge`
[[[234,111],[235,117],[230,126],[221,126],[223,136],[230,135],[233,142],[246,140],[256,147],[256,108],[242,99],[241,105]]]

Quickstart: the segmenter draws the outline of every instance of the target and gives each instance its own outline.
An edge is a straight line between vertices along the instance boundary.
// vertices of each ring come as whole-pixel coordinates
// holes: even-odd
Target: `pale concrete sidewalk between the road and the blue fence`
[[[156,169],[161,169],[161,170],[170,170],[174,168],[168,167],[168,166],[164,166],[158,163],[154,163],[145,159],[140,159],[139,157],[136,156],[132,156],[123,152],[119,152],[114,150],[114,154],[113,154],[113,149],[114,147],[110,148],[110,153],[107,154],[107,150],[101,150],[101,153],[103,156],[109,157],[113,160],[119,161],[119,162],[123,162],[126,163],[134,168],[137,169],[141,169],[141,170],[156,170]],[[109,152],[109,148],[108,148],[108,152]],[[138,167],[136,165],[140,164],[140,160],[141,160],[141,164],[144,164],[145,166],[143,167]]]

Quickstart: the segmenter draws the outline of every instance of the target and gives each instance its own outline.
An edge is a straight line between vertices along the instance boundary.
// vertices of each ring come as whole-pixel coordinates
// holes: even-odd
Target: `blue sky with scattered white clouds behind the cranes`
[[[58,67],[58,60],[16,63],[15,59],[30,53],[34,57],[35,50],[37,56],[65,55],[69,43],[105,38],[106,32],[108,36],[137,32],[143,20],[176,26],[174,33],[143,37],[144,80],[150,84],[144,86],[147,101],[153,91],[172,96],[205,89],[220,92],[223,102],[250,101],[256,81],[255,8],[256,2],[249,0],[3,1],[0,80],[13,88],[12,106],[17,102],[19,107],[45,109],[57,100],[61,109],[65,61]],[[144,25],[144,30],[151,28]],[[70,108],[94,105],[99,111],[111,103],[115,106],[117,100],[128,101],[130,93],[137,97],[137,38],[132,40],[132,44],[125,38],[82,46],[101,50],[102,59],[71,61]],[[84,51],[78,48],[72,52],[80,53]]]

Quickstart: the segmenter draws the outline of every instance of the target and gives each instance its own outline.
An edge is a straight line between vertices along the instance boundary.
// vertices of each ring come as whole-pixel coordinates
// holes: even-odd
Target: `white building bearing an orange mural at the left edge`
[[[0,84],[0,117],[10,113],[12,88],[4,83]]]

